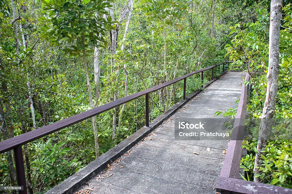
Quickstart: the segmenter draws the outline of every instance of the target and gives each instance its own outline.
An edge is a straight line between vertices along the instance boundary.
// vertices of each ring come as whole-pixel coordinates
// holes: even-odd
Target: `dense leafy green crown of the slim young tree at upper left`
[[[94,47],[100,47],[104,40],[105,32],[114,29],[111,17],[107,20],[103,15],[108,15],[112,1],[98,0],[43,0],[42,8],[44,17],[41,20],[46,24],[41,28],[44,36],[50,42],[68,42],[69,48],[63,49],[70,56],[81,53],[82,50],[93,52]],[[82,35],[82,37],[81,37]]]

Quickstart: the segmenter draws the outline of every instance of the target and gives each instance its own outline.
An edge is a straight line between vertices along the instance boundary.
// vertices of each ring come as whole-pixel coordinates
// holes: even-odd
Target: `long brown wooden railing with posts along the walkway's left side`
[[[18,181],[18,186],[23,186],[23,190],[20,191],[20,194],[27,194],[27,187],[26,187],[26,180],[25,180],[25,169],[24,169],[24,163],[23,163],[23,154],[22,154],[22,145],[25,145],[29,142],[32,142],[36,139],[42,138],[46,135],[52,134],[56,131],[59,131],[61,129],[64,129],[66,127],[69,127],[73,124],[76,124],[78,122],[81,122],[83,120],[86,120],[88,118],[91,118],[95,115],[98,115],[100,113],[103,113],[105,111],[108,111],[112,108],[115,108],[117,106],[120,106],[122,104],[125,104],[127,102],[130,102],[134,99],[137,99],[138,97],[141,97],[145,95],[145,125],[146,127],[149,127],[149,93],[155,92],[161,88],[164,88],[166,86],[169,86],[171,84],[174,84],[178,81],[184,80],[184,86],[183,86],[183,99],[186,98],[186,79],[189,76],[192,76],[197,73],[201,73],[201,82],[203,83],[204,79],[204,71],[211,70],[211,79],[213,79],[214,76],[214,67],[222,65],[222,72],[224,72],[224,65],[226,63],[233,62],[233,61],[225,61],[223,63],[219,63],[217,65],[212,65],[210,67],[206,67],[201,70],[197,70],[191,73],[188,73],[186,75],[180,76],[176,79],[173,79],[171,81],[167,81],[165,83],[162,83],[158,86],[154,86],[152,88],[137,92],[135,94],[117,99],[113,102],[104,104],[102,106],[99,106],[97,108],[93,108],[89,111],[85,111],[83,113],[74,115],[72,117],[60,120],[58,122],[46,125],[44,127],[29,131],[27,133],[21,134],[19,136],[10,138],[5,141],[0,142],[0,154],[7,152],[9,150],[14,151],[14,156],[15,156],[15,166],[16,166],[16,173],[17,173],[17,181]],[[220,67],[219,67],[220,70]]]

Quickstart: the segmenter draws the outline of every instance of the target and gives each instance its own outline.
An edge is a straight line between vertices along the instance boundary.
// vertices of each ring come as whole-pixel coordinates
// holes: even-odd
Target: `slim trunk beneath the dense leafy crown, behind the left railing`
[[[82,38],[82,43],[84,46],[83,33],[81,34],[81,38]],[[84,70],[85,70],[85,75],[86,75],[87,89],[88,89],[88,94],[89,94],[89,102],[90,102],[90,106],[92,109],[92,108],[94,108],[94,106],[93,106],[93,99],[92,99],[92,94],[91,94],[90,80],[89,80],[88,70],[87,70],[87,61],[86,61],[85,50],[83,50],[83,63],[84,63]],[[93,118],[92,118],[92,125],[93,125],[93,132],[94,132],[95,155],[96,155],[96,158],[98,158],[99,157],[99,145],[98,145],[98,137],[97,137],[96,116],[93,116]]]

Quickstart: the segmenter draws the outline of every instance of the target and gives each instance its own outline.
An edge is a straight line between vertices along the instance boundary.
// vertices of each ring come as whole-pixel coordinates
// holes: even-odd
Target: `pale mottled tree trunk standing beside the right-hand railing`
[[[267,72],[267,93],[260,122],[259,139],[255,158],[254,172],[259,173],[259,167],[263,163],[260,155],[265,149],[267,141],[270,139],[272,131],[272,118],[275,112],[278,77],[279,77],[279,37],[281,24],[282,0],[271,1],[270,12],[270,40],[269,40],[269,67]],[[259,182],[259,177],[254,178],[254,182]]]

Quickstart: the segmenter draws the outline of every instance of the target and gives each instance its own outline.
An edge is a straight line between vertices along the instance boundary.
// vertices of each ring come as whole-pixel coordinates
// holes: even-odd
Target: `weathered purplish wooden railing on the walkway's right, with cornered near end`
[[[248,80],[249,75],[246,74],[244,81]],[[238,179],[249,90],[249,84],[242,85],[237,114],[216,190],[224,194],[291,194],[292,189],[289,188]]]

